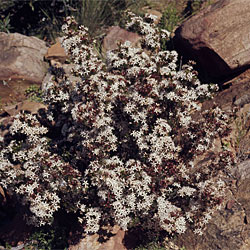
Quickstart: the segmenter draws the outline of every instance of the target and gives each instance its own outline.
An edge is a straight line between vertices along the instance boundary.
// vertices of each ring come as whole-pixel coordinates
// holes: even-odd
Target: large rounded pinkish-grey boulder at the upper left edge
[[[47,70],[47,47],[36,37],[0,32],[0,80],[17,79],[41,84]]]

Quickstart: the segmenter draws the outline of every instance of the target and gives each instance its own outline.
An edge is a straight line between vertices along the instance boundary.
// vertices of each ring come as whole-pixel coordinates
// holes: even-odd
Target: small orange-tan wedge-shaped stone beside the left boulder
[[[45,59],[64,63],[68,56],[65,53],[64,48],[61,46],[60,39],[57,38],[56,41],[57,42],[48,49]]]

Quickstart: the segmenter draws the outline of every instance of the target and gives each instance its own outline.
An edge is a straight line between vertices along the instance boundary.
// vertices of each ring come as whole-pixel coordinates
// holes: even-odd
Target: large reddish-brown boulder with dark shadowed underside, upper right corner
[[[250,66],[249,20],[249,0],[220,0],[176,30],[175,47],[210,76],[225,77]]]

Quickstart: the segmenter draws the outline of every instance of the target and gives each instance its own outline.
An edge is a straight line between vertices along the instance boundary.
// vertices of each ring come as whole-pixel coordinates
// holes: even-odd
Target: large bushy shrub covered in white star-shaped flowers
[[[169,34],[152,16],[130,14],[126,28],[139,32],[141,47],[119,44],[103,62],[87,29],[66,19],[62,45],[81,81],[55,76],[47,111],[16,117],[2,144],[0,184],[36,225],[60,208],[75,212],[86,233],[116,223],[201,234],[234,159],[222,151],[202,167],[194,160],[229,133],[229,117],[214,108],[193,118],[215,87],[201,84],[191,65],[178,70],[177,53],[162,50]]]

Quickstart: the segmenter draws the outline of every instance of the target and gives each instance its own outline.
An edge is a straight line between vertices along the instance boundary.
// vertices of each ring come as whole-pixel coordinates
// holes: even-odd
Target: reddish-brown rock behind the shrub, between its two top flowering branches
[[[136,33],[129,32],[118,26],[112,26],[109,28],[107,35],[103,40],[103,51],[114,50],[118,48],[118,43],[130,41],[132,46],[138,46],[140,42],[140,36]]]

